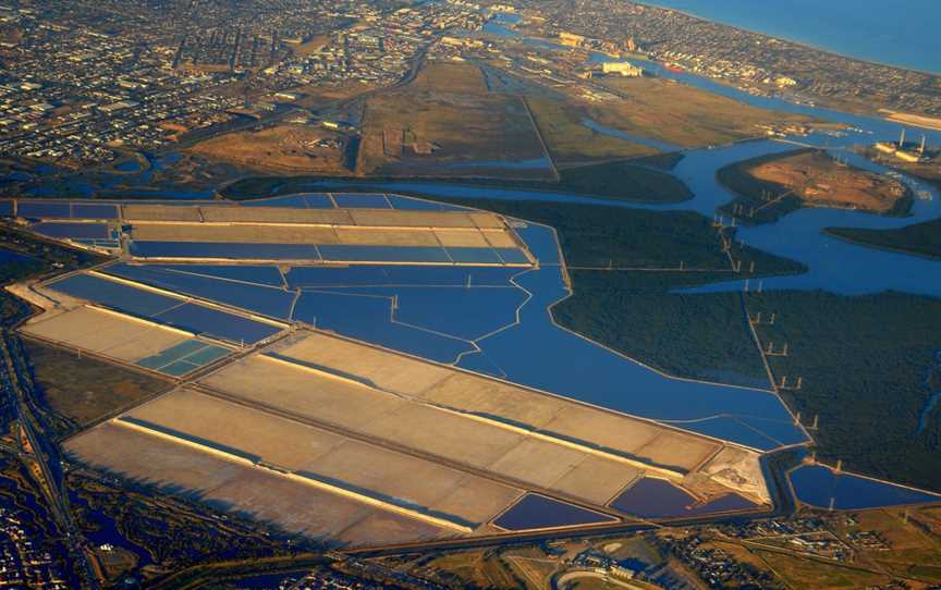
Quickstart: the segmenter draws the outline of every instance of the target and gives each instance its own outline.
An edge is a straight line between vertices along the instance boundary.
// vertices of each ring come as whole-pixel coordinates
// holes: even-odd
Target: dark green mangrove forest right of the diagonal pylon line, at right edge
[[[799,391],[782,395],[805,421],[819,415],[814,437],[821,459],[941,491],[941,405],[926,410],[941,390],[941,300],[900,293],[746,297],[753,317],[760,311],[767,321],[777,314],[758,333],[765,346],[787,343],[789,356],[769,361],[779,380],[804,378]]]

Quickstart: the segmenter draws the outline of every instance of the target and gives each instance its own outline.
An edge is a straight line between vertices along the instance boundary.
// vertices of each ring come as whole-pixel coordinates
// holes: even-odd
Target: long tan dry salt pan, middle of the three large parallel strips
[[[271,385],[262,389],[261,382]],[[285,362],[250,358],[217,372],[204,383],[229,395],[308,419],[326,420],[370,440],[394,442],[528,485],[551,484],[590,454],[559,442],[531,439],[525,432],[493,421],[444,411]],[[595,495],[613,494],[636,474],[630,465],[611,458],[602,463],[611,464],[611,472],[620,470],[621,481],[606,483]]]

